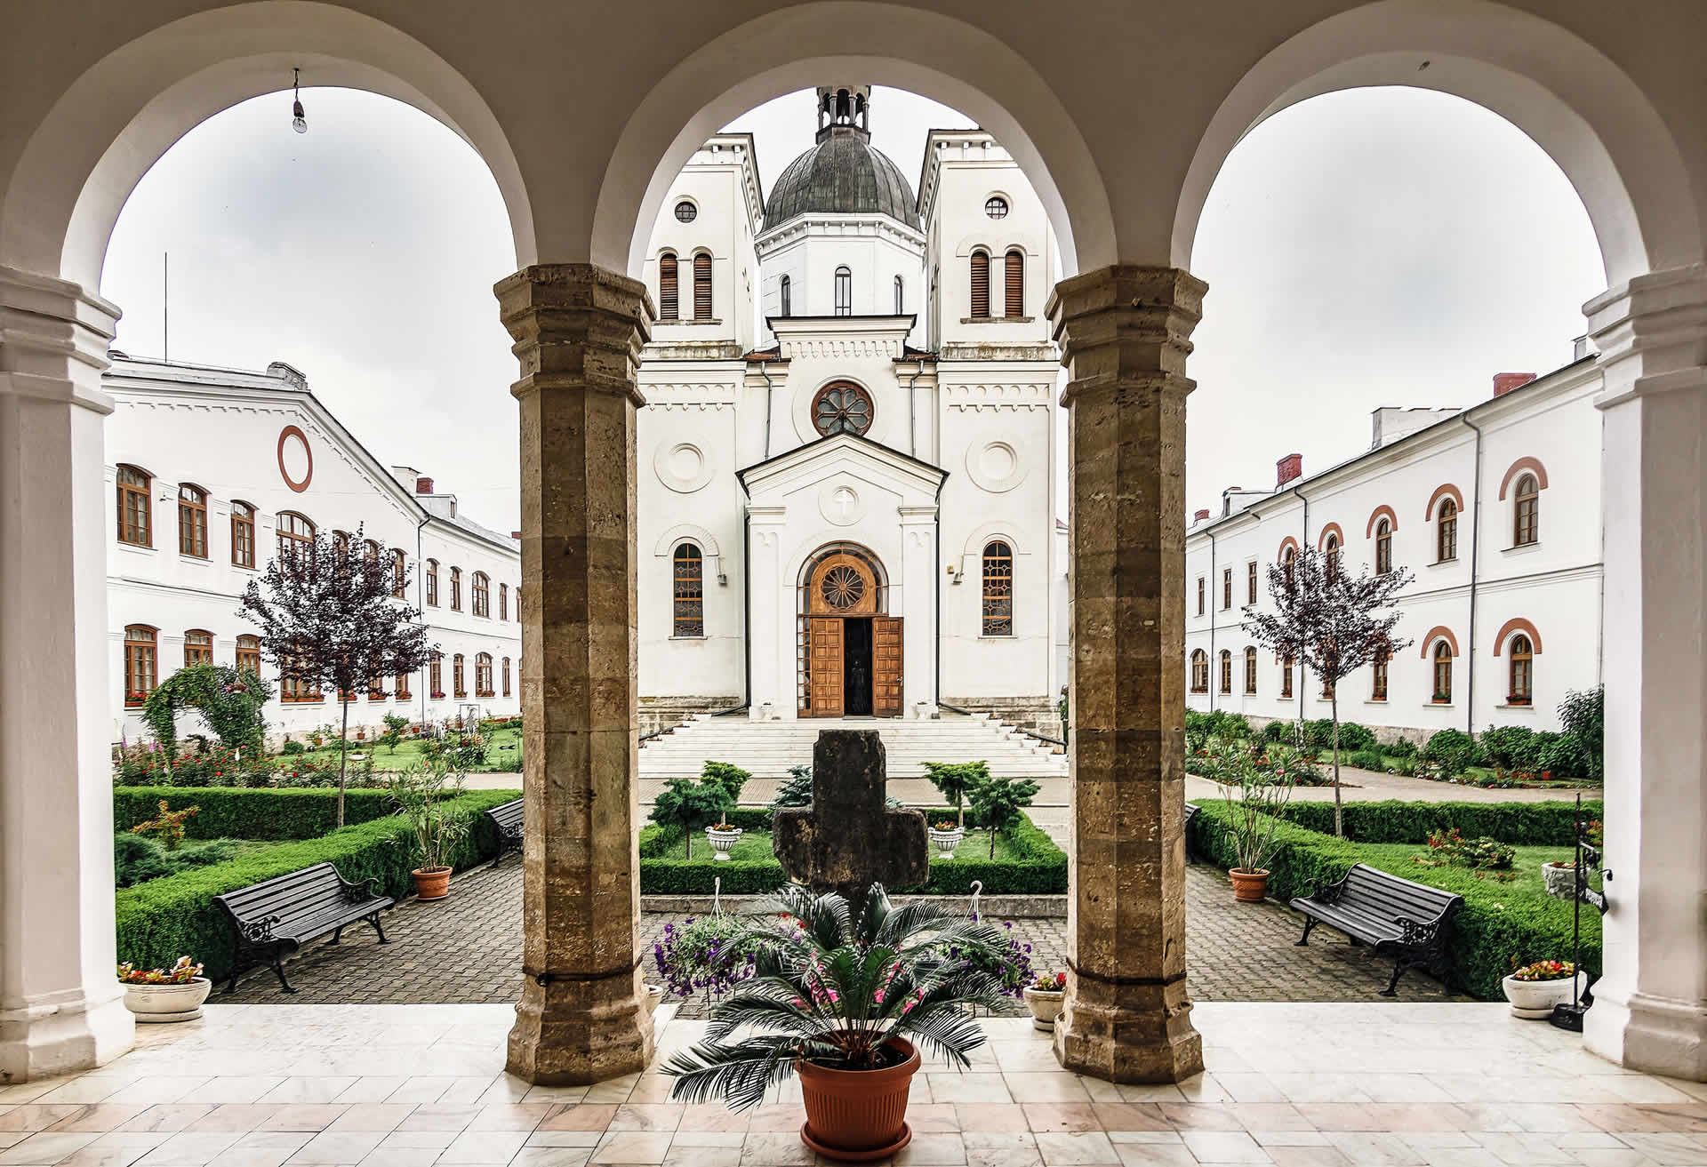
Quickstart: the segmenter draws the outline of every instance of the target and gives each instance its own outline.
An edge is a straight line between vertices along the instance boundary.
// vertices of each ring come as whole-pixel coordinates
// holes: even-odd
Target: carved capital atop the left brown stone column
[[[654,317],[644,283],[591,263],[539,263],[492,292],[521,362],[516,398],[575,389],[645,404],[635,380]]]

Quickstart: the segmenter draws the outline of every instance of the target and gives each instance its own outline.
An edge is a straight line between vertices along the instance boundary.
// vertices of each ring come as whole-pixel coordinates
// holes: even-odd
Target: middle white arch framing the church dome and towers
[[[958,75],[942,72],[949,56]],[[659,80],[611,154],[594,210],[592,261],[637,276],[664,196],[693,152],[748,109],[824,77],[906,89],[968,114],[1036,189],[1060,241],[1063,275],[1116,261],[1101,172],[1038,72],[971,24],[867,0],[768,12],[712,39]]]

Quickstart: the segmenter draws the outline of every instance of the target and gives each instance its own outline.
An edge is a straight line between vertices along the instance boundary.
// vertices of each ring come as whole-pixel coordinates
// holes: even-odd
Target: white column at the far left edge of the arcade
[[[101,372],[118,309],[0,268],[0,1083],[135,1032],[113,976]]]

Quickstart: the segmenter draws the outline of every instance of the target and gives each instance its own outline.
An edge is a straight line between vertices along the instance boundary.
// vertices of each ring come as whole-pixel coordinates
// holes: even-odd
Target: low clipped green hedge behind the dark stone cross
[[[949,816],[951,810],[934,807],[927,819]],[[744,816],[753,816],[743,821]],[[734,826],[753,831],[770,829],[770,814],[765,810],[734,812],[729,816]],[[968,816],[968,826],[971,816]],[[725,896],[765,896],[787,882],[782,863],[777,860],[714,863],[707,860],[659,858],[674,841],[674,834],[662,827],[649,826],[640,833],[640,892],[645,896],[710,896],[712,880],[722,879]],[[1009,843],[1022,851],[1022,862],[990,860],[949,860],[932,862],[930,879],[917,887],[896,887],[891,891],[923,892],[929,896],[966,896],[971,880],[983,880],[985,896],[1060,896],[1067,891],[1067,853],[1055,846],[1029,817],[1009,833]]]

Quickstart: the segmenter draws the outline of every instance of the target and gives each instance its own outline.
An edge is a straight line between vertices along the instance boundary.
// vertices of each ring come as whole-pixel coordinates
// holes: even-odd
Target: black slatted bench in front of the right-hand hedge
[[[1465,897],[1439,887],[1400,879],[1367,863],[1354,863],[1338,884],[1318,887],[1292,901],[1304,914],[1304,935],[1318,923],[1338,928],[1352,943],[1367,943],[1378,955],[1393,954],[1393,979],[1381,996],[1393,996],[1398,978],[1412,967],[1446,976],[1446,928]]]

